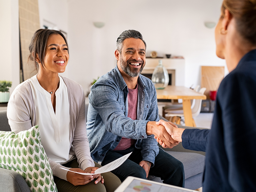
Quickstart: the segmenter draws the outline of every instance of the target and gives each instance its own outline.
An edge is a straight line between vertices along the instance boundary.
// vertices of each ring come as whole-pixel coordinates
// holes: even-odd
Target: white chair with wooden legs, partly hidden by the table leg
[[[205,90],[206,90],[206,88],[203,87],[199,90],[199,93],[204,94]],[[201,106],[202,106],[202,99],[196,99],[193,108],[191,108],[192,117],[196,117],[199,115],[199,113],[201,111]],[[176,122],[176,124],[180,124],[180,117],[184,116],[184,112],[182,109],[170,110],[166,114],[164,114],[164,116],[172,117],[172,119],[170,119],[171,122],[173,122],[173,123]],[[195,123],[194,119],[193,119],[193,126],[196,127],[196,123]]]

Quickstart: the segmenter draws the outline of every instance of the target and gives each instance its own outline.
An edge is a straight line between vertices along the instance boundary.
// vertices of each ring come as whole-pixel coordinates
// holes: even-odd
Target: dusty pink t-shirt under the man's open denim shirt
[[[130,117],[132,120],[137,119],[137,100],[138,100],[138,86],[136,86],[135,89],[129,89],[128,88],[128,117]],[[128,139],[125,137],[122,137],[118,145],[114,150],[124,150],[136,142],[135,139]]]

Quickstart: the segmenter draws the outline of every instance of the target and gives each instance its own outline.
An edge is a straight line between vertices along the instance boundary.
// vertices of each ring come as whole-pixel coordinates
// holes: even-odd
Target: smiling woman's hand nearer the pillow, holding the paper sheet
[[[71,168],[70,171],[80,172],[80,173],[87,173],[87,171],[83,171],[79,168]],[[92,175],[81,175],[78,173],[70,172],[67,173],[67,180],[68,182],[72,183],[73,185],[85,185],[90,183],[94,178]]]

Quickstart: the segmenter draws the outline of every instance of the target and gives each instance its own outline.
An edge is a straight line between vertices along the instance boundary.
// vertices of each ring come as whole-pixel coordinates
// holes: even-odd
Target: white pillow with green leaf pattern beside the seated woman
[[[18,172],[32,192],[57,192],[38,125],[28,131],[0,131],[0,167]]]

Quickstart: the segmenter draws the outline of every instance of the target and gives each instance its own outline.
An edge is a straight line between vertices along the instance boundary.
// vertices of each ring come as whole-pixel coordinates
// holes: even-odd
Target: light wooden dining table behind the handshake
[[[193,127],[193,117],[190,100],[206,99],[206,95],[198,93],[193,89],[173,85],[168,85],[164,89],[156,89],[156,96],[157,99],[182,99],[185,125],[190,127]]]

